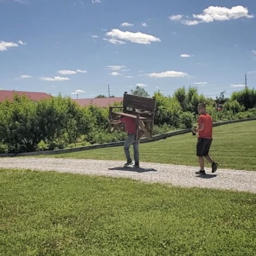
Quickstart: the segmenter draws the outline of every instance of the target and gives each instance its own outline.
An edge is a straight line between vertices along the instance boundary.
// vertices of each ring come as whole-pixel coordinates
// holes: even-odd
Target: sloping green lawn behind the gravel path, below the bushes
[[[156,142],[141,143],[140,161],[198,165],[196,143],[196,136],[192,136],[191,133]],[[256,121],[214,127],[210,155],[219,163],[220,168],[256,170]],[[52,157],[125,160],[122,146]]]

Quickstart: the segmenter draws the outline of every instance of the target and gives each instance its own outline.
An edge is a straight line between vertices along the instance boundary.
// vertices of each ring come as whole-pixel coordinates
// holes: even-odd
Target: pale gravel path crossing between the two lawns
[[[0,168],[55,170],[76,173],[122,177],[152,183],[167,183],[183,187],[208,187],[250,191],[256,193],[256,172],[218,169],[215,174],[206,168],[207,175],[196,175],[198,167],[159,163],[140,163],[140,168],[123,167],[123,161],[80,160],[61,158],[0,158]]]

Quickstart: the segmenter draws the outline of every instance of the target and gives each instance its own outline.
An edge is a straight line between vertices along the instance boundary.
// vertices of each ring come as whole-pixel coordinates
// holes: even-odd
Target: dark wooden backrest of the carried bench
[[[155,98],[147,98],[132,94],[124,93],[123,95],[123,108],[131,108],[133,110],[139,111],[150,111],[151,113],[155,113]]]

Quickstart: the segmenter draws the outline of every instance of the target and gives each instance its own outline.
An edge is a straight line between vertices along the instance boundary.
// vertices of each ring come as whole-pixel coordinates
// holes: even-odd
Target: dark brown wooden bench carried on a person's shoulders
[[[109,119],[115,120],[121,116],[136,119],[136,140],[140,139],[142,136],[151,139],[153,135],[155,104],[156,99],[154,97],[147,98],[127,94],[127,92],[125,92],[122,106],[110,106]],[[110,124],[110,133],[113,133],[117,129],[124,132],[124,124],[119,123],[113,126]]]

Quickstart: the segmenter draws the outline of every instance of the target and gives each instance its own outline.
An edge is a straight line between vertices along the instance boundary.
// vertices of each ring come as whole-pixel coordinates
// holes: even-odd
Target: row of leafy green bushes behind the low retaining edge
[[[256,117],[256,90],[234,92],[216,111],[214,99],[199,95],[196,88],[178,89],[172,97],[155,92],[153,134],[190,128],[197,121],[197,105],[207,104],[215,122]],[[116,104],[118,105],[118,104]],[[54,150],[97,143],[122,141],[125,133],[108,131],[108,108],[79,106],[71,98],[53,97],[33,102],[14,95],[0,102],[0,153]]]

